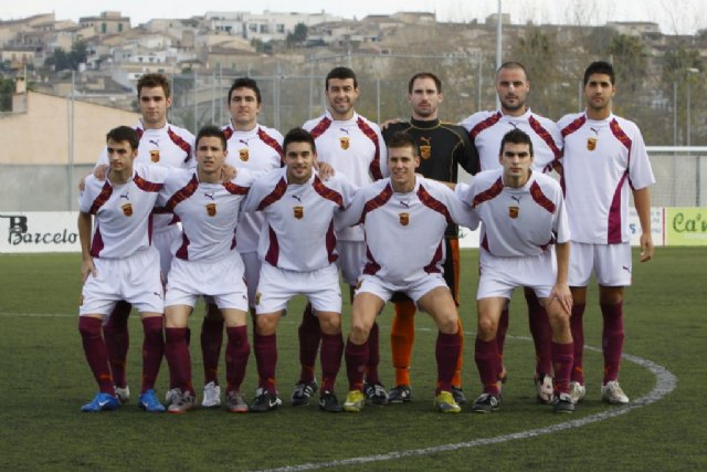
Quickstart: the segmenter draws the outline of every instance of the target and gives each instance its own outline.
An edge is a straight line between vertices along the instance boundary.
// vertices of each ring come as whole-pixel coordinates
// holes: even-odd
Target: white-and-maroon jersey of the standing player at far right
[[[627,119],[584,113],[562,117],[562,185],[572,241],[614,244],[631,240],[629,190],[655,183],[643,136]]]

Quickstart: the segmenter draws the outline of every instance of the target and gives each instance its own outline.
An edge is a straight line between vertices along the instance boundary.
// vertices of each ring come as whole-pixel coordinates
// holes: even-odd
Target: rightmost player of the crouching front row
[[[552,178],[532,170],[532,140],[520,129],[504,135],[498,160],[500,169],[477,174],[471,186],[457,186],[458,197],[474,207],[483,223],[474,357],[484,391],[472,410],[490,412],[500,405],[496,331],[513,290],[524,286],[536,292],[552,331],[555,411],[572,412],[570,233],[562,189]]]

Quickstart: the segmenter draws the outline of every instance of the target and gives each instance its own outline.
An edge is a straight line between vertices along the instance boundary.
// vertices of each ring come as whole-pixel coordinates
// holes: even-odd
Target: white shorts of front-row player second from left
[[[209,295],[209,303],[215,303],[219,308],[247,312],[243,261],[238,252],[233,251],[221,260],[210,262],[175,258],[169,272],[165,306],[193,307],[200,295]]]

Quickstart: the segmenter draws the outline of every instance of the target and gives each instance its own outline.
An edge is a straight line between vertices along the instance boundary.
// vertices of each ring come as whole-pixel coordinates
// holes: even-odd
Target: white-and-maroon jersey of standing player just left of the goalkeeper
[[[342,172],[356,186],[365,186],[389,175],[388,148],[377,124],[354,113],[347,120],[336,120],[327,112],[303,127],[312,133],[317,158]],[[337,233],[344,241],[362,241],[363,230],[347,228]]]

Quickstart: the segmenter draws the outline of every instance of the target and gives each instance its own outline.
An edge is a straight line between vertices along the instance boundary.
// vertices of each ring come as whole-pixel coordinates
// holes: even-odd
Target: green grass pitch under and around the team
[[[473,361],[477,252],[462,251],[461,315],[467,334],[464,387],[469,399],[479,391]],[[296,327],[303,300],[291,304],[278,331],[278,388],[284,407],[266,415],[231,415],[198,409],[184,416],[146,415],[135,399],[115,412],[86,415],[80,407],[95,392],[76,329],[81,289],[78,254],[0,255],[0,468],[3,470],[260,470],[330,463],[349,470],[707,470],[707,408],[701,396],[707,374],[703,343],[705,321],[705,249],[661,248],[656,259],[634,265],[634,286],[624,302],[624,353],[665,367],[677,387],[664,398],[625,415],[578,428],[528,437],[524,431],[561,426],[614,412],[600,401],[601,354],[585,353],[587,399],[572,416],[553,415],[535,403],[532,343],[523,295],[511,305],[506,365],[509,380],[499,412],[442,416],[432,409],[436,331],[419,315],[412,360],[413,401],[359,415],[327,415],[315,405],[288,406],[297,379]],[[590,290],[585,344],[600,347],[601,314],[597,290]],[[345,333],[350,310],[344,310]],[[190,321],[194,385],[200,384],[199,308]],[[390,366],[391,310],[379,318],[381,377],[393,381]],[[139,389],[141,327],[133,334],[128,381]],[[223,364],[223,363],[222,363]],[[167,364],[158,394],[167,389]],[[337,382],[346,395],[346,371]],[[223,366],[221,367],[223,380]],[[632,399],[651,392],[656,377],[624,360],[621,382]],[[256,387],[251,355],[244,391]],[[700,388],[703,390],[700,390]],[[503,442],[494,438],[518,433]],[[485,444],[482,442],[486,441]],[[445,444],[466,442],[447,450]],[[432,448],[426,453],[404,451]],[[437,449],[434,449],[437,448]],[[395,454],[401,452],[401,454]],[[351,458],[381,455],[380,461]],[[388,454],[388,455],[386,455]]]

